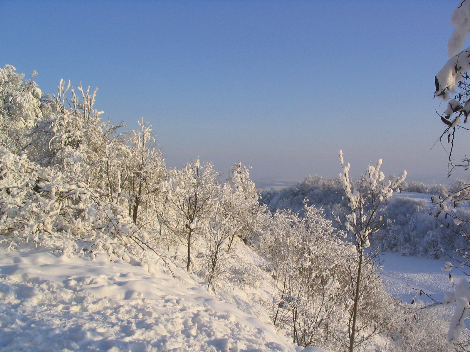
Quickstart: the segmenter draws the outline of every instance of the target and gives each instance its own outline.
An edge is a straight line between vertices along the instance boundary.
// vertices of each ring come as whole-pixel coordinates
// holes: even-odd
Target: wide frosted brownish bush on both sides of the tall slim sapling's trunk
[[[259,250],[271,259],[269,273],[278,281],[273,301],[266,302],[274,325],[299,345],[343,351],[349,348],[359,255],[334,230],[323,211],[305,199],[300,211],[273,215]],[[357,345],[363,346],[384,332],[393,304],[371,263],[363,265],[360,289],[362,339]]]

